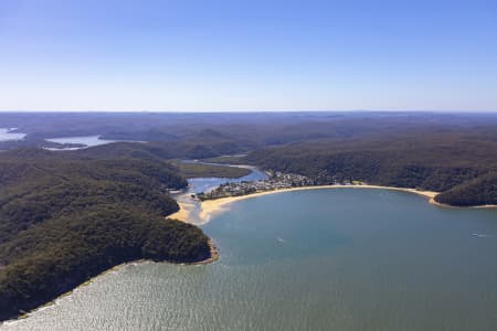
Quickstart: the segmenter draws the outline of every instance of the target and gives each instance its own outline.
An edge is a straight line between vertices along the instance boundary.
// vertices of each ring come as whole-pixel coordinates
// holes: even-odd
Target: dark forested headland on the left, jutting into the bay
[[[0,159],[0,319],[71,290],[117,264],[210,256],[168,189],[187,181],[165,161],[88,159],[43,150]]]

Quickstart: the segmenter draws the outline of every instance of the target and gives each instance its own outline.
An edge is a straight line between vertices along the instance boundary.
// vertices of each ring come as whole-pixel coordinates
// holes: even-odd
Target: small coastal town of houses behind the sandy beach
[[[313,179],[302,174],[283,173],[279,171],[268,171],[267,173],[269,177],[267,180],[225,183],[211,191],[198,193],[195,197],[200,201],[205,201],[290,188],[313,186],[317,184]],[[334,181],[334,184],[351,185],[362,183],[357,181]]]

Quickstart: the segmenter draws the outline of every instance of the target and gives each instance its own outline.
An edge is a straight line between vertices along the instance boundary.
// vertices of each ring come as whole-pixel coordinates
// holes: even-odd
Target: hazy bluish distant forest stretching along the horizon
[[[168,158],[200,159],[316,139],[465,130],[491,136],[495,131],[488,130],[496,124],[496,114],[464,113],[7,113],[0,115],[0,127],[18,128],[28,136],[0,141],[0,150],[56,147],[43,139],[98,135],[167,142]],[[163,148],[157,149],[165,153]]]

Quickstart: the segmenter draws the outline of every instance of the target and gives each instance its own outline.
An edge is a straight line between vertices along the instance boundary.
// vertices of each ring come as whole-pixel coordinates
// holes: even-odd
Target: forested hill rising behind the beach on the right
[[[321,184],[357,180],[444,192],[435,200],[451,205],[497,204],[497,131],[488,128],[315,140],[256,150],[243,161]]]

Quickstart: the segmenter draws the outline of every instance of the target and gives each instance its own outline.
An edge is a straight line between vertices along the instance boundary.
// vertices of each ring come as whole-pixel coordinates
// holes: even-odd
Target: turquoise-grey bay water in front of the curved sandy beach
[[[497,211],[387,190],[240,201],[205,266],[131,264],[1,330],[496,330]]]

